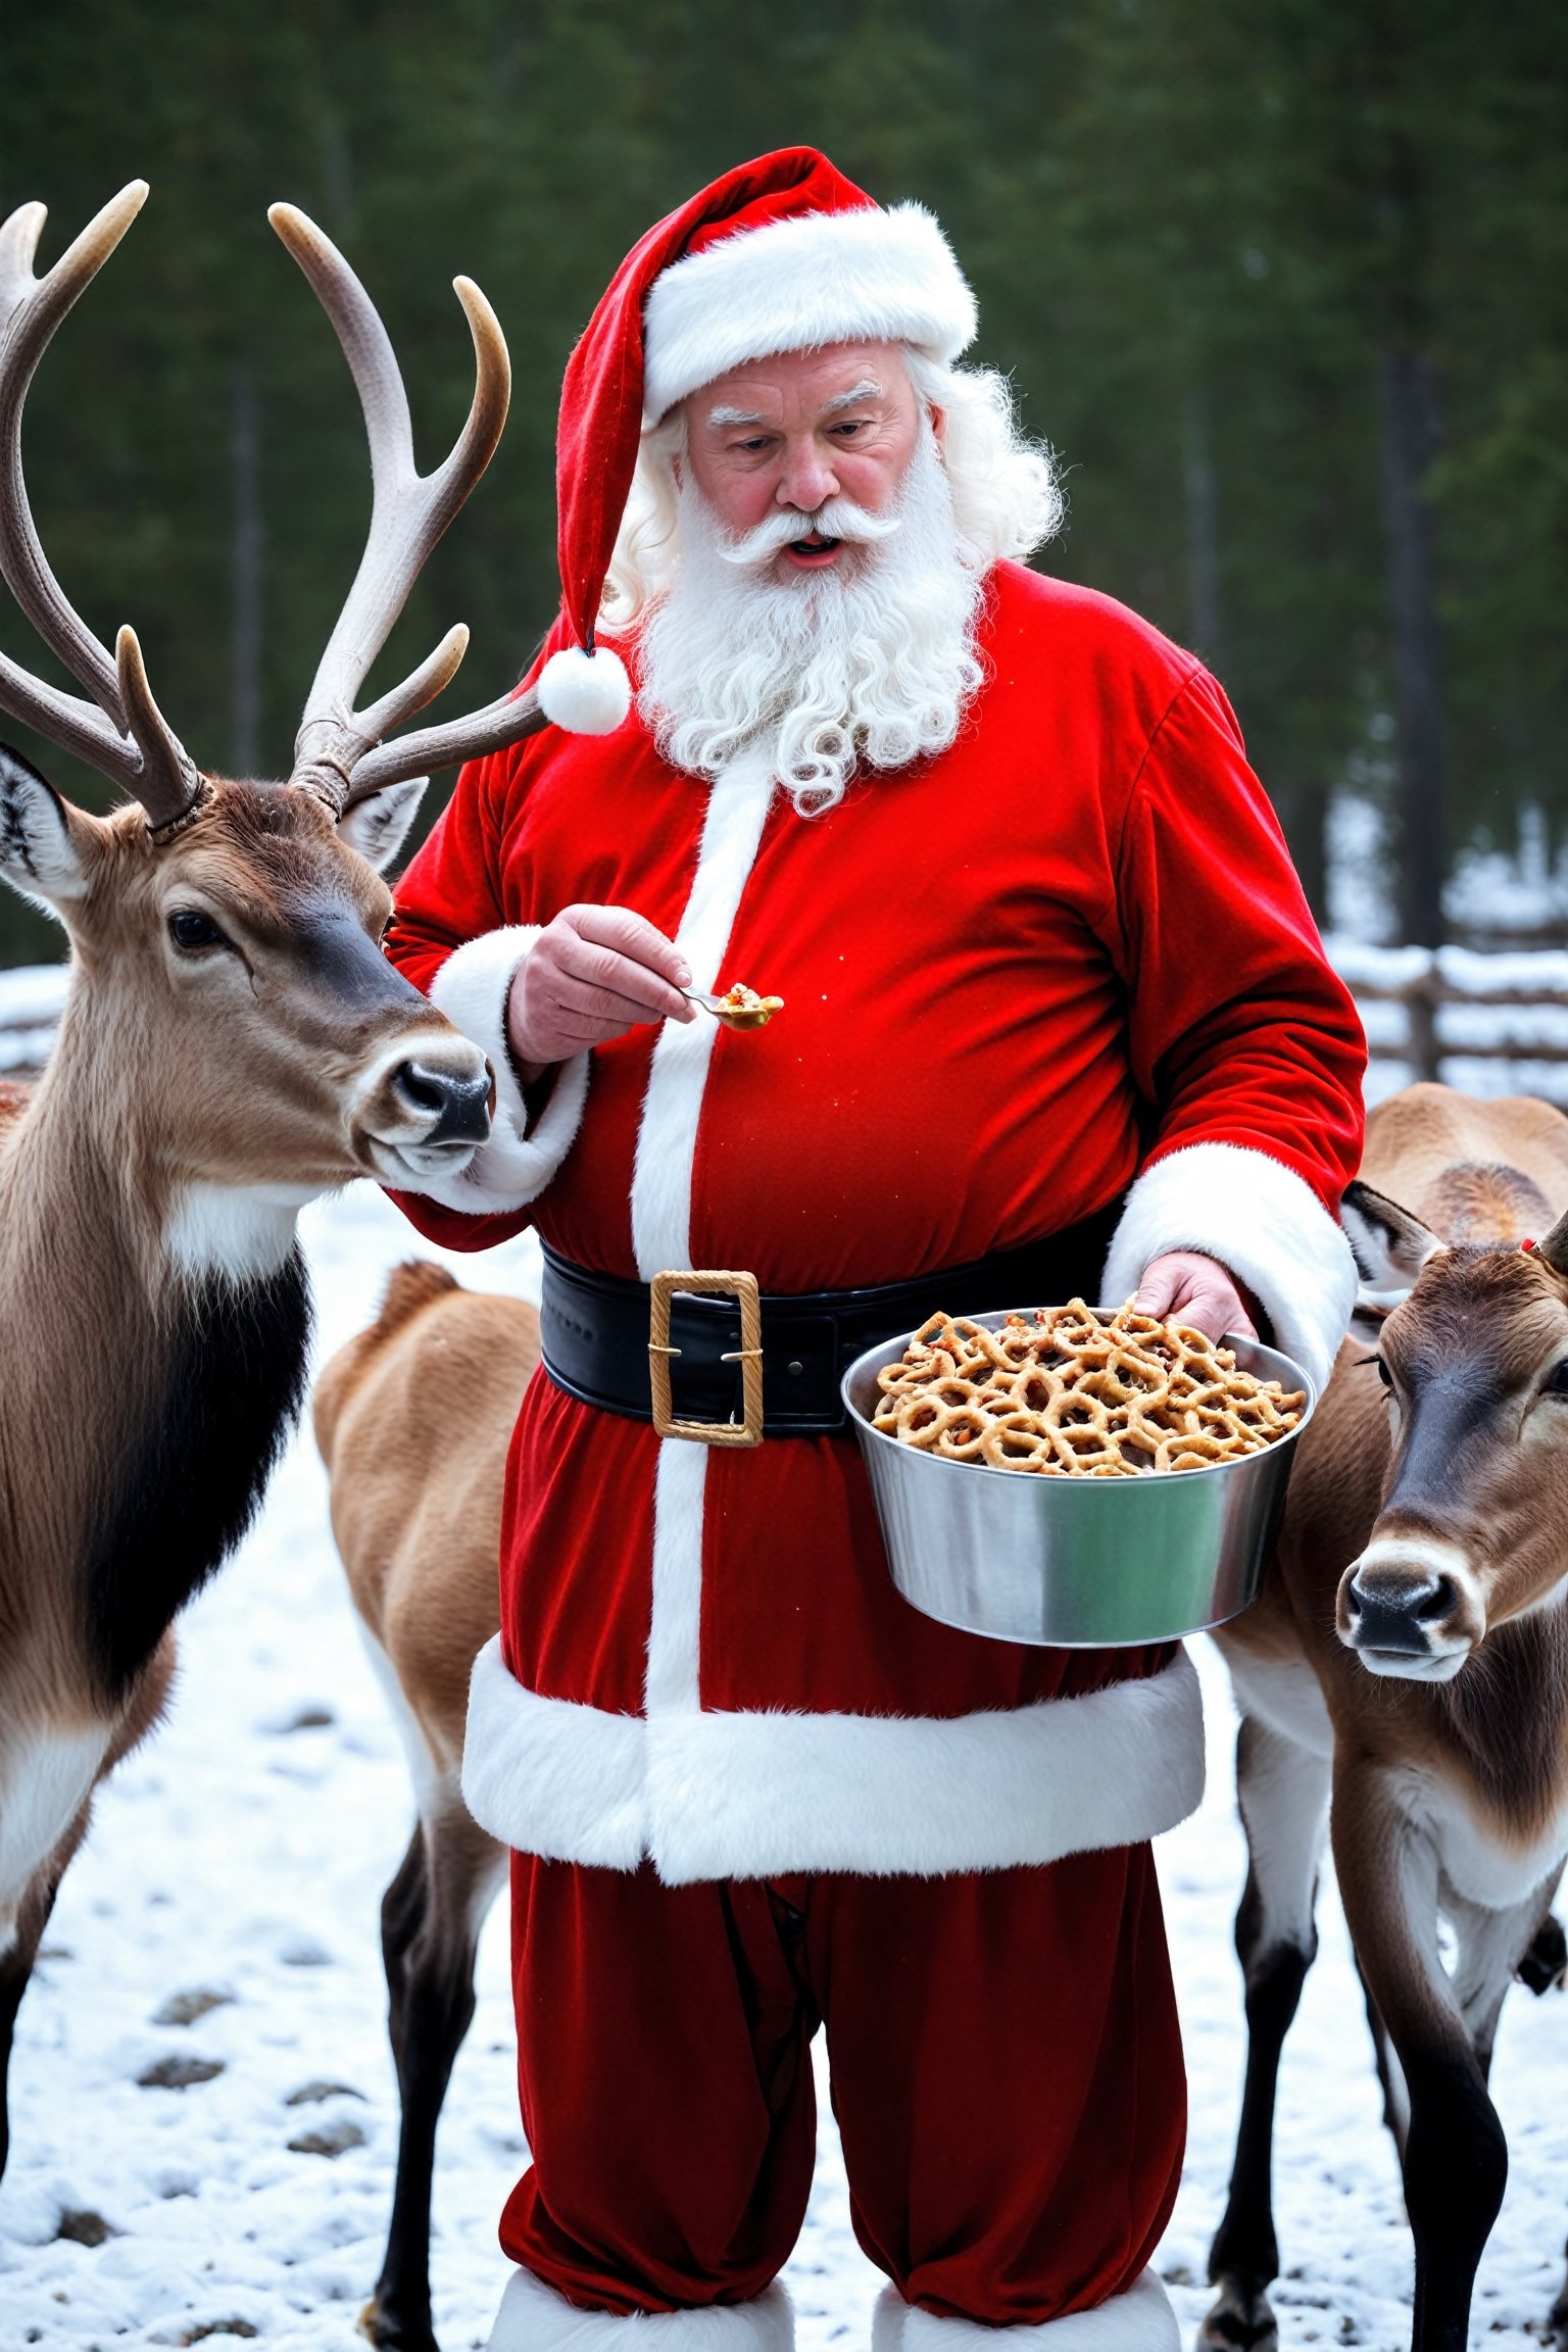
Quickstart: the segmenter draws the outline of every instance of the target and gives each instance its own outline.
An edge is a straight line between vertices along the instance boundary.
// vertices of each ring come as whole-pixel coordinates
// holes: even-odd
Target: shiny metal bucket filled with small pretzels
[[[844,1374],[893,1583],[999,1642],[1114,1646],[1258,1597],[1307,1374],[1133,1305],[933,1315]]]

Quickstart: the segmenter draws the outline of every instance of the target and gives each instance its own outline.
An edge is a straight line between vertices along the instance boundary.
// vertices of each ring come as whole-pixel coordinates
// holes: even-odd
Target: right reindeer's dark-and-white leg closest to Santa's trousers
[[[1246,2086],[1225,2220],[1208,2251],[1220,2296],[1199,2328],[1201,2352],[1274,2352],[1265,2288],[1279,2272],[1274,2239],[1274,2089],[1279,2056],[1316,1957],[1316,1877],[1328,1811],[1328,1757],[1244,1715],[1237,1797],[1246,1825],[1246,1893],[1237,1955],[1246,1980]]]

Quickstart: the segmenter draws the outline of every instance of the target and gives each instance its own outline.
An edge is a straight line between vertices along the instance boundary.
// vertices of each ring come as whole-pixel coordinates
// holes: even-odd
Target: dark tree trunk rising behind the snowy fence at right
[[[1436,948],[1443,938],[1448,870],[1448,774],[1432,506],[1425,494],[1439,437],[1432,360],[1385,343],[1378,355],[1378,407],[1399,722],[1399,924],[1406,941]]]

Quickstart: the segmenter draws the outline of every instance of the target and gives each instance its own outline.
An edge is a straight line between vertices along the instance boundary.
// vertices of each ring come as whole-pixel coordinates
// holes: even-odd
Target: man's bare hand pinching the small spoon
[[[639,1021],[696,1021],[696,1004],[677,995],[689,981],[679,950],[628,906],[562,908],[505,1000],[505,1042],[524,1084]]]

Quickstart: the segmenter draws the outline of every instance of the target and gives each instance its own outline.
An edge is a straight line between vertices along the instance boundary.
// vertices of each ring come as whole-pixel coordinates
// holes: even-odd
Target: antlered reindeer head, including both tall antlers
[[[75,983],[38,1110],[71,1094],[179,1261],[244,1258],[324,1185],[458,1174],[489,1131],[494,1073],[381,955],[395,856],[430,767],[543,724],[534,694],[400,741],[388,731],[456,673],[468,630],[369,710],[355,696],[425,555],[480,477],[505,421],[501,327],[456,282],[475,341],[475,400],[444,466],[414,468],[409,405],[369,296],[327,238],[287,205],[273,226],[327,308],[371,445],[369,541],[322,656],[280,783],[195,767],[172,731],[129,628],[106,652],[38,543],[21,475],[21,407],[38,360],[141,209],[125,188],[33,275],[42,205],[0,228],[0,574],[89,699],[0,656],[0,706],[113,776],[134,804],[108,818],[63,802],[0,753],[0,875],[71,931]],[[261,1211],[259,1211],[261,1204]],[[275,1211],[266,1216],[266,1207]],[[252,1244],[266,1256],[266,1240]]]

